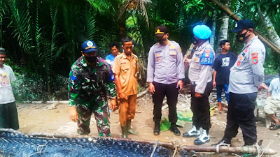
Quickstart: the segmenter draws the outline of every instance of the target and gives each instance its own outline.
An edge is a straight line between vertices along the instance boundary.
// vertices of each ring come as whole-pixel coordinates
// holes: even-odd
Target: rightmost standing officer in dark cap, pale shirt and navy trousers
[[[225,135],[218,144],[231,144],[230,141],[237,135],[239,127],[243,133],[244,146],[253,145],[257,141],[253,111],[258,88],[264,78],[265,46],[253,30],[254,24],[251,20],[240,20],[232,30],[237,33],[237,41],[245,45],[230,72],[228,121]]]

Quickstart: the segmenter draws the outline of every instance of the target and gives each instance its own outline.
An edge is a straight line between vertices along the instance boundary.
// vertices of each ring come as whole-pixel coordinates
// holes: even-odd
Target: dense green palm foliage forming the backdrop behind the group
[[[258,31],[264,35],[258,8],[267,11],[280,34],[279,1],[221,0],[221,3],[231,3],[230,8],[242,19],[254,20]],[[186,52],[195,24],[204,22],[211,27],[216,22],[217,33],[222,16],[214,3],[203,0],[0,0],[0,46],[6,48],[13,61],[18,84],[26,84],[22,89],[25,91],[17,89],[19,94],[25,95],[20,99],[40,97],[30,87],[32,81],[36,83],[34,87],[48,91],[52,98],[55,91],[66,86],[57,78],[68,77],[73,61],[80,57],[80,44],[85,40],[94,40],[98,55],[105,57],[111,41],[120,43],[123,36],[131,36],[144,84],[148,52],[156,42],[155,27],[167,26],[169,40],[175,40]],[[230,20],[229,30],[234,27],[234,20]],[[243,45],[235,42],[235,33],[229,33],[228,38],[231,50],[240,52]],[[279,54],[268,49],[265,73],[274,73],[279,68],[279,59]]]

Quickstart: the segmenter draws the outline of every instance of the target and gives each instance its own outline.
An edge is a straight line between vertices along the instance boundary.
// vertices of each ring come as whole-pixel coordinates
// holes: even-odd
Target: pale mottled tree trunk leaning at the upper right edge
[[[270,18],[267,16],[266,13],[262,13],[262,11],[258,10],[260,21],[262,22],[262,26],[265,27],[265,31],[267,32],[267,36],[269,40],[272,40],[272,42],[280,47],[280,38],[278,34],[276,33],[273,24],[270,20]]]

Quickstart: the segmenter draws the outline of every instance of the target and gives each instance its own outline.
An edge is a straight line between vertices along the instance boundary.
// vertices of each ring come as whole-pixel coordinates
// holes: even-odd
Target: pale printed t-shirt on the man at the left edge
[[[0,104],[13,103],[15,101],[12,86],[10,85],[10,82],[14,80],[15,74],[12,68],[3,65],[3,68],[0,68]]]

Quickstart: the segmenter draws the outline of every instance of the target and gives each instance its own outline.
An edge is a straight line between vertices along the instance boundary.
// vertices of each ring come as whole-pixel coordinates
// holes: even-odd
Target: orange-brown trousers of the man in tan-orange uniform
[[[136,110],[137,94],[128,96],[127,99],[120,99],[120,125],[125,126],[127,120],[134,119]]]

